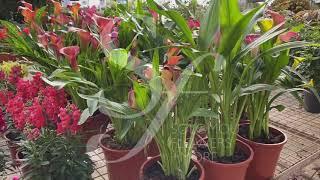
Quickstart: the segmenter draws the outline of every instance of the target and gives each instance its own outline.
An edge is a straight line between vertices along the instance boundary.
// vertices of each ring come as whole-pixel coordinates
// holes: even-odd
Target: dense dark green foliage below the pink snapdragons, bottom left
[[[79,138],[49,129],[40,134],[23,143],[24,179],[91,179],[93,162],[82,153]]]

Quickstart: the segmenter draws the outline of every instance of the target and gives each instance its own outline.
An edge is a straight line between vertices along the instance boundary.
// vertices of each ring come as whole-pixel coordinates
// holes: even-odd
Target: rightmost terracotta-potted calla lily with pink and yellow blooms
[[[266,21],[273,22],[273,28],[277,28],[276,20],[285,19],[278,13],[267,13],[271,13],[273,19],[267,18],[258,21],[260,29],[267,29],[263,27]],[[285,29],[281,30],[280,26],[284,25],[284,21],[278,23],[281,33],[259,45],[258,52],[249,55],[249,58],[252,59],[258,57],[254,70],[248,74],[249,77],[255,77],[251,79],[252,82],[268,84],[270,89],[261,90],[246,97],[246,111],[249,122],[240,124],[238,139],[250,145],[254,152],[253,160],[246,175],[247,179],[267,180],[273,177],[281,150],[287,142],[287,136],[280,130],[269,126],[269,112],[272,109],[282,111],[285,108],[282,105],[273,106],[272,103],[284,93],[303,91],[302,88],[285,87],[279,80],[282,78],[281,76],[288,75],[283,72],[290,62],[290,48],[284,48],[276,56],[267,53],[276,46],[281,46],[281,44],[299,44],[299,42],[292,42],[299,39],[298,33]],[[258,38],[263,36],[263,33],[268,33],[268,31],[262,31],[262,34],[248,35],[246,43],[249,45],[255,43]],[[277,93],[272,94],[271,91],[276,89],[278,89]]]

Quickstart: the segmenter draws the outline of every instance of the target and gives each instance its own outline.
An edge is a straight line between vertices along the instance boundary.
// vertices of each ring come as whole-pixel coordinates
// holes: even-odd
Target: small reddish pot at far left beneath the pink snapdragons
[[[19,146],[19,140],[16,140],[16,135],[19,134],[17,131],[14,130],[8,130],[4,133],[4,139],[6,140],[7,146],[10,151],[10,157],[12,159],[13,164],[17,164],[16,162],[16,154],[18,152]]]

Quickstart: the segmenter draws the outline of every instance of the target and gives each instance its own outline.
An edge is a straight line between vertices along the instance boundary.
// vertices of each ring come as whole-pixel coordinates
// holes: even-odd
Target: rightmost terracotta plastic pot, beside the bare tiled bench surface
[[[270,127],[269,129],[270,132],[276,135],[282,135],[284,140],[278,144],[262,144],[238,135],[238,139],[248,144],[254,152],[253,160],[247,171],[246,180],[270,180],[274,175],[281,150],[287,142],[287,136],[275,128]]]

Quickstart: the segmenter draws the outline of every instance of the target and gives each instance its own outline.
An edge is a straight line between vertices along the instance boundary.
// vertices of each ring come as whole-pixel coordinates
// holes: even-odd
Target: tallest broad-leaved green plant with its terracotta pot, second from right
[[[205,108],[216,113],[216,116],[206,119],[207,144],[198,148],[208,179],[245,179],[253,158],[252,148],[237,140],[239,120],[248,95],[268,90],[270,85],[256,84],[248,79],[249,70],[255,70],[253,65],[259,58],[248,59],[248,54],[284,32],[279,30],[282,26],[279,24],[267,29],[268,33],[255,43],[241,47],[262,11],[263,6],[260,6],[242,14],[236,0],[212,1],[206,16],[202,18],[198,43],[191,45],[201,53],[187,48],[183,51],[192,59],[197,71],[209,81],[209,103]],[[305,44],[281,44],[273,47],[267,54]]]

